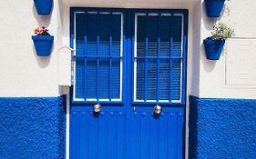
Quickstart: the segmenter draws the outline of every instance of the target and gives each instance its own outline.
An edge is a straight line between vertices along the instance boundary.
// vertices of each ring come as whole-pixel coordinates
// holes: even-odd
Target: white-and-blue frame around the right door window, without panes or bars
[[[180,100],[171,100],[171,101],[162,101],[162,100],[137,100],[136,99],[136,57],[135,55],[137,54],[137,17],[138,15],[147,15],[147,14],[160,14],[160,15],[182,15],[182,28],[181,28],[181,65],[180,65],[180,70],[181,70],[181,78],[180,78]],[[137,17],[136,17],[137,15]],[[138,9],[134,10],[133,12],[133,50],[132,50],[132,102],[131,104],[136,104],[136,105],[143,105],[143,104],[148,104],[148,105],[153,105],[153,104],[162,104],[162,105],[183,105],[186,103],[186,81],[187,81],[187,40],[188,40],[188,10],[185,9]]]

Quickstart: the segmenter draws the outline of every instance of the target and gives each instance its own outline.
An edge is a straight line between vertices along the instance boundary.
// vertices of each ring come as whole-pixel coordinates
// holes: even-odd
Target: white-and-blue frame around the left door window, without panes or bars
[[[111,98],[111,100],[103,98],[77,98],[76,97],[76,56],[77,53],[77,43],[76,43],[76,25],[77,25],[77,14],[98,14],[98,15],[120,15],[120,55],[119,55],[119,64],[120,64],[120,86],[119,86],[119,98]],[[124,70],[124,47],[125,47],[125,35],[124,35],[124,11],[120,9],[101,9],[101,8],[71,8],[70,12],[71,23],[70,23],[70,47],[74,48],[74,53],[72,56],[72,89],[71,89],[71,99],[72,103],[83,103],[83,104],[123,104],[124,101],[124,79],[125,79],[125,70]],[[73,23],[72,23],[73,22]],[[84,58],[84,57],[83,57]],[[86,66],[84,65],[84,68]],[[86,77],[86,75],[85,75]],[[85,90],[86,91],[86,90]]]

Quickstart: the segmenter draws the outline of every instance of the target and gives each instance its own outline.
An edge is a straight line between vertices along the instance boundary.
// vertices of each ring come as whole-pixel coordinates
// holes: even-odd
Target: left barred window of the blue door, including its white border
[[[122,21],[119,12],[75,15],[75,101],[121,101]]]

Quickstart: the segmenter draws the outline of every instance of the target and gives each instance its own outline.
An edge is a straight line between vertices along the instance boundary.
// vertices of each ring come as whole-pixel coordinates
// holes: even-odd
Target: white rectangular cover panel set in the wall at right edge
[[[226,85],[256,88],[256,39],[230,39],[226,49]],[[250,60],[248,60],[250,59]]]

